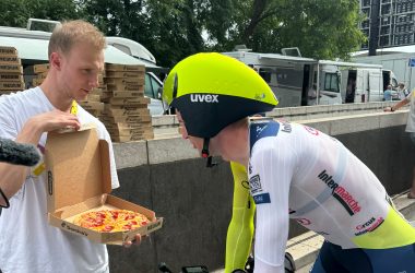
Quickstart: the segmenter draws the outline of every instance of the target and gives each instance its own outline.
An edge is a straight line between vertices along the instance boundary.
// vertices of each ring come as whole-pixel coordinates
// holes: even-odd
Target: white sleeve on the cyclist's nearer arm
[[[254,272],[284,272],[288,238],[288,195],[295,155],[287,139],[261,139],[252,150],[250,190],[257,205]]]

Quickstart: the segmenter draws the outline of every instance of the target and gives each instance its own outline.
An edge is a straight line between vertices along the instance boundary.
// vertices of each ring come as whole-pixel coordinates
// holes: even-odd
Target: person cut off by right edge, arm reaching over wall
[[[413,90],[405,98],[392,107],[384,108],[384,111],[395,111],[404,105],[410,105],[405,131],[410,133],[412,143],[415,145],[415,90]],[[412,187],[407,193],[407,198],[415,199],[415,166],[413,168]]]

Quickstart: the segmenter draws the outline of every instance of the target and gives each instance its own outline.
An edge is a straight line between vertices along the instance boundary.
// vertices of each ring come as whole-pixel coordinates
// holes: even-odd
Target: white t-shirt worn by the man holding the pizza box
[[[26,120],[51,111],[39,87],[0,97],[0,138],[15,139]],[[104,124],[78,107],[81,123],[94,122],[99,139],[109,142],[112,188],[119,187],[112,145]],[[47,133],[40,138],[45,146]],[[0,269],[3,273],[107,272],[105,245],[49,226],[45,171],[29,175],[23,187],[10,199],[10,207],[0,216]]]

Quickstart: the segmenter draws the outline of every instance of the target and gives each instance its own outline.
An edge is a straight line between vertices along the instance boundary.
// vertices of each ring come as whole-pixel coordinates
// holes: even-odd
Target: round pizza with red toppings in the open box
[[[76,216],[73,224],[100,233],[128,232],[149,223],[149,218],[128,210],[100,210]]]

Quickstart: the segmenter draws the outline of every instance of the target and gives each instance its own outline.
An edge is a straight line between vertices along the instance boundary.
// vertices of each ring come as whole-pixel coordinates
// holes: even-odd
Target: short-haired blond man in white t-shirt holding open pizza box
[[[104,35],[84,21],[58,26],[49,41],[49,72],[38,87],[0,97],[0,138],[32,143],[42,151],[47,132],[94,122],[108,141],[111,186],[119,187],[111,140],[104,124],[76,104],[98,85]],[[0,216],[3,273],[108,272],[105,245],[48,225],[46,175],[38,168],[0,163],[0,188],[10,209]],[[137,238],[140,242],[140,236]],[[127,246],[130,246],[128,242]]]

